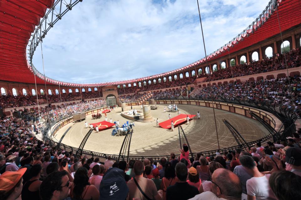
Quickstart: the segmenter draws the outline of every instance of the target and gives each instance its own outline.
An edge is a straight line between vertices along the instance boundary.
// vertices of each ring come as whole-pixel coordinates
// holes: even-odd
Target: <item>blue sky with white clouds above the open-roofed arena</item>
[[[269,0],[200,0],[207,54],[229,42]],[[98,83],[159,74],[204,57],[196,0],[87,0],[43,39],[45,75]],[[40,71],[40,48],[33,57]]]

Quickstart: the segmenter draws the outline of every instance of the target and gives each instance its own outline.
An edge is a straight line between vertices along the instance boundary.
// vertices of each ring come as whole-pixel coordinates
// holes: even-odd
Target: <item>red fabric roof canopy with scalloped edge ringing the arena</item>
[[[34,83],[34,74],[26,58],[26,47],[31,33],[34,32],[34,28],[40,22],[40,18],[44,17],[46,9],[51,8],[53,3],[54,0],[0,0],[0,80]],[[301,22],[300,0],[278,0],[278,15],[282,31],[299,25]],[[261,18],[261,21],[265,20],[267,21],[262,25],[259,22],[251,26],[246,33],[241,34],[234,41],[225,44],[223,48],[208,55],[207,59],[210,61],[218,59],[228,54],[228,48],[233,53],[280,33],[276,11],[271,16],[267,14]],[[203,58],[182,68],[162,74],[111,83],[73,84],[45,78],[48,84],[82,87],[120,85],[162,77],[190,68],[194,69],[196,65],[205,62],[205,60]],[[44,84],[44,76],[41,73],[37,74],[36,82],[37,84]]]

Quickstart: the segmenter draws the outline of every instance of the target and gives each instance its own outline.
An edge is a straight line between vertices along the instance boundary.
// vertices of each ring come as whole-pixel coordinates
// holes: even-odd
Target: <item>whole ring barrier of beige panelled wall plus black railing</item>
[[[148,103],[148,102],[147,102]],[[237,146],[231,146],[224,149],[217,149],[217,150],[209,150],[209,151],[203,151],[204,156],[212,156],[215,155],[215,152],[222,152],[222,151],[229,151],[229,150],[235,150],[236,148],[242,148],[247,150],[248,146],[255,146],[257,142],[261,142],[261,144],[266,144],[268,141],[276,141],[281,138],[285,138],[287,136],[291,136],[292,133],[296,131],[295,127],[295,120],[296,115],[292,111],[292,109],[285,107],[285,106],[276,106],[276,105],[270,105],[267,102],[241,102],[237,100],[218,100],[218,101],[210,101],[210,100],[157,100],[157,104],[183,104],[183,105],[199,105],[204,107],[211,107],[219,110],[226,110],[229,112],[233,112],[236,114],[244,115],[246,117],[249,117],[254,120],[260,120],[260,122],[264,123],[263,125],[270,131],[270,134],[260,138],[256,141],[248,142],[245,144],[237,145]],[[130,105],[138,105],[138,103],[127,103],[127,106]],[[86,115],[90,115],[92,113],[98,112],[103,108],[95,109],[95,110],[89,110],[86,111]],[[52,134],[55,134],[57,130],[59,130],[62,126],[65,126],[66,124],[72,122],[72,117],[66,118],[62,121],[60,121],[57,125],[55,125],[54,130],[52,130]],[[48,130],[45,130],[48,132]],[[46,132],[45,132],[46,133]],[[50,140],[50,138],[46,137],[47,134],[44,134],[43,139],[44,140]],[[111,154],[104,154],[100,152],[94,152],[94,151],[87,151],[84,149],[78,149],[76,147],[68,146],[62,143],[58,143],[56,141],[50,140],[51,145],[57,146],[58,148],[64,150],[64,151],[72,151],[74,154],[76,152],[79,152],[79,155],[87,156],[89,157],[99,157],[101,162],[104,162],[108,156],[111,156],[113,160],[118,160],[119,155],[111,155]],[[194,157],[198,152],[191,153],[191,157]],[[176,155],[180,156],[180,154]],[[162,155],[162,156],[121,156],[120,159],[123,160],[143,160],[145,158],[152,158],[154,161],[159,161],[161,157],[169,158],[169,155]]]

